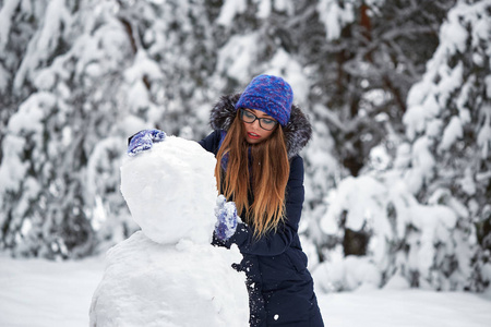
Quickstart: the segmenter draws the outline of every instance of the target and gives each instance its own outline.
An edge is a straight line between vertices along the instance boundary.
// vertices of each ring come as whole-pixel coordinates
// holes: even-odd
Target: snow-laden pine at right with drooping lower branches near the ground
[[[331,194],[323,230],[363,229],[370,240],[364,257],[333,251],[314,272],[321,288],[400,287],[400,277],[438,290],[489,286],[489,1],[458,1],[408,94],[407,142],[396,160],[343,180]]]

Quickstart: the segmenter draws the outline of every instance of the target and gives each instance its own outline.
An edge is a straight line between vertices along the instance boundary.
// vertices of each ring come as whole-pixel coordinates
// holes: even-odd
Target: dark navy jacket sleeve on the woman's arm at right
[[[278,226],[276,231],[268,232],[259,240],[254,238],[249,226],[239,223],[236,233],[225,245],[229,247],[235,243],[246,254],[273,256],[284,253],[297,237],[303,199],[303,159],[296,156],[290,162],[290,177],[286,190],[285,222]]]

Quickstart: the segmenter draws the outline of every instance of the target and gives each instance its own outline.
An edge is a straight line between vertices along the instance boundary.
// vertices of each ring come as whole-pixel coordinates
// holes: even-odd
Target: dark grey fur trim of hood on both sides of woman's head
[[[228,131],[236,118],[236,102],[240,94],[223,96],[213,107],[209,114],[209,124],[213,130]],[[283,128],[285,134],[288,158],[292,158],[300,153],[312,137],[312,125],[306,114],[296,105],[291,106],[290,120]]]

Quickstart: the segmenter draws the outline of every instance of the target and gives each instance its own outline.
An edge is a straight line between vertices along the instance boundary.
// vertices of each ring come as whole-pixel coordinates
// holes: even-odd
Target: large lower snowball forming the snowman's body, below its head
[[[112,247],[91,305],[91,326],[249,326],[237,247],[153,242],[141,231]]]

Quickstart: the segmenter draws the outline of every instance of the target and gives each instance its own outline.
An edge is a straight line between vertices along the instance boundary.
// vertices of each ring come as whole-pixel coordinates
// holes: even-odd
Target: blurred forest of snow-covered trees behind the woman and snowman
[[[136,229],[127,138],[201,140],[223,94],[285,77],[309,113],[319,287],[491,280],[491,1],[0,0],[0,251],[75,259]]]

